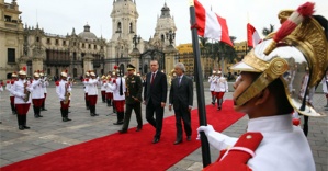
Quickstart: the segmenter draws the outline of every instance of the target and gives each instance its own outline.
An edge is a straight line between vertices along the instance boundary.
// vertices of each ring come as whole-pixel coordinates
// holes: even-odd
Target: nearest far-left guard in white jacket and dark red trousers
[[[11,87],[11,93],[14,95],[14,104],[18,114],[19,129],[30,129],[26,126],[26,114],[31,105],[31,92],[33,91],[30,80],[26,80],[26,67],[19,71],[20,79]]]

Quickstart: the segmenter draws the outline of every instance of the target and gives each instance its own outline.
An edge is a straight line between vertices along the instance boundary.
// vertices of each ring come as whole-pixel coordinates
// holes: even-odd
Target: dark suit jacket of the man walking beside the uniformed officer
[[[144,91],[144,100],[146,101],[146,105],[149,100],[151,100],[155,106],[160,105],[161,102],[167,102],[168,94],[168,82],[167,76],[160,71],[157,71],[154,82],[151,81],[152,72],[146,75],[146,84]]]

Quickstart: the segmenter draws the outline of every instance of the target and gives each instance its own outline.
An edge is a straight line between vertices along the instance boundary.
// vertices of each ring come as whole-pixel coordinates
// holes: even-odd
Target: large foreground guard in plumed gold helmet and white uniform
[[[309,68],[305,90],[316,87],[328,67],[328,22],[312,15],[314,3],[306,2],[296,11],[279,13],[281,29],[270,34],[231,66],[240,70],[235,82],[234,109],[249,117],[247,133],[239,138],[201,126],[208,142],[223,150],[219,159],[204,170],[229,171],[315,171],[313,153],[301,128],[292,124],[292,113],[325,116],[306,103],[307,93],[290,93],[285,73],[294,68],[292,89],[298,92],[302,76]],[[228,148],[228,149],[226,149]],[[225,150],[226,149],[226,150]]]

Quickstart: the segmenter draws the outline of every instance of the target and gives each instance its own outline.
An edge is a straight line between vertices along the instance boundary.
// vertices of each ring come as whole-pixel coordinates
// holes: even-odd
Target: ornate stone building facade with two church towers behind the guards
[[[71,77],[80,77],[88,70],[98,75],[120,66],[125,72],[127,64],[137,71],[149,71],[149,61],[158,59],[162,70],[170,70],[177,61],[176,24],[167,3],[157,19],[155,34],[149,41],[138,36],[139,14],[135,0],[113,0],[112,37],[98,37],[86,24],[81,33],[72,29],[70,34],[46,33],[36,26],[23,26],[21,11],[15,0],[0,0],[0,79],[8,79],[23,66],[27,75],[44,70],[48,76],[58,76],[68,70]]]

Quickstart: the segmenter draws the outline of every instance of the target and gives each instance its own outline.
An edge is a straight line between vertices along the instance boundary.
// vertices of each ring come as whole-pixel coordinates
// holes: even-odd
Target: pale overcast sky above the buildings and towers
[[[4,0],[11,2],[12,0]],[[191,43],[189,0],[135,0],[137,4],[138,35],[148,41],[154,35],[158,15],[165,2],[174,18],[177,32],[176,45]],[[249,22],[259,32],[263,27],[280,27],[278,13],[281,10],[295,10],[305,0],[199,0],[205,9],[225,18],[229,35],[235,42],[246,41],[246,25]],[[22,21],[30,26],[38,23],[46,33],[67,35],[75,27],[83,32],[88,23],[98,37],[111,39],[113,0],[18,0]],[[315,14],[328,19],[328,0],[315,0]]]

